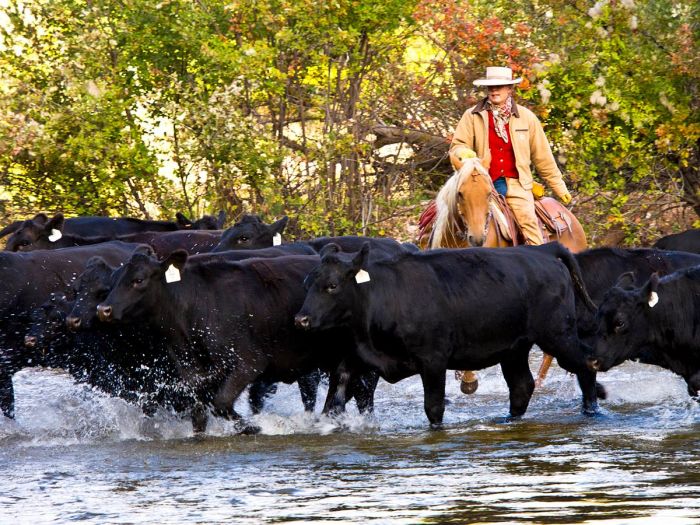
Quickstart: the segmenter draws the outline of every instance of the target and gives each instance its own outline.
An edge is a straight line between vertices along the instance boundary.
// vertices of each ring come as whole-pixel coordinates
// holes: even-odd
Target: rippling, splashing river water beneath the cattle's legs
[[[281,385],[252,418],[262,434],[215,420],[193,437],[171,414],[24,370],[16,420],[0,416],[0,522],[700,523],[700,404],[651,366],[599,378],[609,399],[595,418],[553,367],[525,418],[503,423],[491,368],[473,396],[449,377],[444,431],[428,430],[411,378],[380,381],[374,416],[353,405],[339,420],[305,415]]]

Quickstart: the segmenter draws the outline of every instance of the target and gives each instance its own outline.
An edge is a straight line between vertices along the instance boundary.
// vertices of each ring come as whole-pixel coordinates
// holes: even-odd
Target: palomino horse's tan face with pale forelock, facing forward
[[[493,183],[478,159],[465,163],[459,171],[457,210],[466,229],[470,246],[482,246],[490,220]]]

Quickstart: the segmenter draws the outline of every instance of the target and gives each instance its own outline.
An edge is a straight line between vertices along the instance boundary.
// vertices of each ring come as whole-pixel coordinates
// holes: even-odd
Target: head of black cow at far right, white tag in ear
[[[596,344],[588,358],[592,370],[605,372],[639,357],[648,344],[649,313],[658,308],[659,276],[653,274],[641,288],[632,288],[629,279],[622,275],[598,308]]]

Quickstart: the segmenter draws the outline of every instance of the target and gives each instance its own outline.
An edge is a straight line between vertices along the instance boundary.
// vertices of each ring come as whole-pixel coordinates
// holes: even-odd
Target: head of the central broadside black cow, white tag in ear
[[[306,299],[294,318],[297,327],[305,330],[347,326],[360,319],[363,310],[361,287],[363,268],[369,260],[369,243],[355,254],[342,254],[337,244],[321,250],[321,264],[306,278]],[[359,277],[359,278],[358,278]]]

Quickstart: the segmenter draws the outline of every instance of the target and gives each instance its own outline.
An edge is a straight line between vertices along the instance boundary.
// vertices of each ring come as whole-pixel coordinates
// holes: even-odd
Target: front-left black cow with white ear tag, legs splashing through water
[[[98,306],[103,321],[140,319],[160,334],[182,378],[196,392],[196,431],[206,427],[205,407],[235,418],[233,402],[257,379],[292,382],[339,359],[332,334],[301,334],[294,313],[304,298],[303,280],[317,256],[253,258],[176,251],[163,261],[135,254],[116,272],[109,296]],[[181,275],[169,275],[177,270]],[[340,352],[342,357],[342,352]]]

